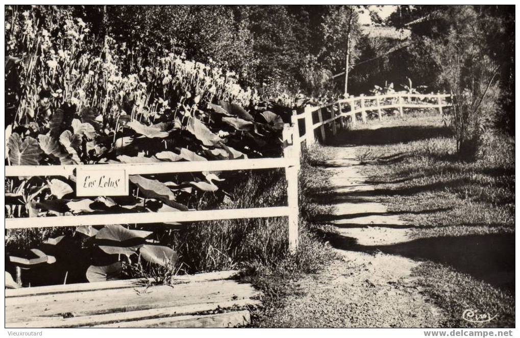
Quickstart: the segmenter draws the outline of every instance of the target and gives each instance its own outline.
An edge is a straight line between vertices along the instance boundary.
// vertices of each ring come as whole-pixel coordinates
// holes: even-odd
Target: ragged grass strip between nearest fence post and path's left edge
[[[300,244],[294,255],[287,252],[279,252],[273,262],[265,264],[256,261],[250,269],[244,271],[242,280],[250,282],[263,292],[263,306],[252,313],[251,326],[262,326],[274,315],[275,310],[284,306],[287,297],[301,292],[294,281],[300,279],[303,274],[318,272],[337,258],[329,244],[324,243],[322,233],[334,231],[332,228],[324,229],[323,225],[316,225],[310,219],[320,214],[330,214],[332,206],[317,204],[309,196],[310,192],[326,193],[324,181],[329,174],[321,167],[315,166],[327,157],[327,149],[320,146],[304,151],[301,161],[299,177],[300,187]],[[287,238],[284,234],[283,238]],[[285,242],[287,243],[287,242]],[[287,244],[285,244],[287,245]]]

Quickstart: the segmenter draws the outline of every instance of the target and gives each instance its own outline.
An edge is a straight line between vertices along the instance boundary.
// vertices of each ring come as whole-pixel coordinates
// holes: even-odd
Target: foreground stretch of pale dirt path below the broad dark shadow
[[[410,277],[418,263],[385,254],[340,251],[343,259],[298,281],[265,327],[418,328],[438,327],[440,310]]]

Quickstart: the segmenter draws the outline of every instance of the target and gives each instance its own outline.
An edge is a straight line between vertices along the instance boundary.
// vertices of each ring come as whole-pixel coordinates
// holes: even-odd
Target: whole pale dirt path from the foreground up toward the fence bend
[[[408,241],[410,226],[371,197],[355,147],[333,148],[337,240],[361,245]],[[346,195],[348,193],[348,196]],[[439,327],[441,311],[423,295],[411,269],[419,263],[383,253],[336,250],[342,259],[298,281],[301,292],[266,327]]]

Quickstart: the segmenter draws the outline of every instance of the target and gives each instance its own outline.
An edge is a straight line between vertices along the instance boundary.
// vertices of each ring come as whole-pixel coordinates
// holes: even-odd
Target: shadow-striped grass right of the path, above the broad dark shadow
[[[414,237],[514,232],[514,140],[490,135],[482,158],[467,163],[438,116],[353,134],[369,144],[358,157],[378,185],[375,193],[417,226]]]

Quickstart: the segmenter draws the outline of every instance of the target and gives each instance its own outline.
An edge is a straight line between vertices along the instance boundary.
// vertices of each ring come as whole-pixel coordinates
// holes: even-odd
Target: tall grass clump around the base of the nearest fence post
[[[193,223],[171,237],[186,272],[248,269],[252,274],[294,275],[314,272],[334,257],[314,232],[309,218],[321,206],[307,197],[309,189],[322,185],[323,173],[311,165],[313,155],[304,151],[299,177],[300,244],[288,250],[285,217],[212,220]],[[287,205],[287,183],[283,170],[252,171],[237,184],[223,209]]]

